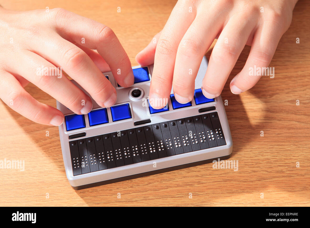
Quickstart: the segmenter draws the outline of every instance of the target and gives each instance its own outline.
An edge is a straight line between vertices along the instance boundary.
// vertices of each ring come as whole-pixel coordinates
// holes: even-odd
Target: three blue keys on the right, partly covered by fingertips
[[[176,101],[175,96],[173,94],[170,95],[170,99],[171,99],[171,104],[172,104],[172,108],[173,109],[180,109],[180,108],[192,106],[192,101],[190,101],[188,103],[185,103],[185,104],[179,103],[178,101]],[[195,99],[196,105],[201,105],[201,104],[205,104],[205,103],[209,103],[209,102],[214,101],[214,99],[206,98],[203,95],[201,89],[195,89],[194,99]],[[148,106],[150,108],[150,114],[164,112],[164,111],[168,111],[169,110],[168,104],[166,105],[166,107],[164,107],[162,109],[153,109],[151,107],[150,103],[148,103]]]

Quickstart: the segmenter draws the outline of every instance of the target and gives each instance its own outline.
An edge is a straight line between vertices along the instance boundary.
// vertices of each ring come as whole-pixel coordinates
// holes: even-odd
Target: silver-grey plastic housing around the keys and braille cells
[[[202,79],[205,76],[207,66],[208,66],[208,61],[206,57],[204,56],[202,59],[200,68],[198,70],[197,77],[195,79],[195,89],[201,88]],[[132,68],[135,69],[139,67],[141,66],[135,66]],[[148,71],[149,71],[149,76],[151,78],[151,75],[153,73],[153,65],[148,66]],[[84,115],[85,123],[86,123],[85,128],[76,129],[76,130],[67,132],[65,123],[59,126],[60,144],[61,144],[62,155],[64,159],[64,167],[65,167],[67,178],[71,186],[76,187],[76,186],[82,186],[82,185],[92,184],[92,183],[101,182],[101,181],[112,180],[112,179],[116,179],[120,177],[126,177],[126,176],[131,176],[131,175],[135,175],[139,173],[150,172],[150,171],[155,171],[155,170],[169,168],[169,167],[175,167],[175,166],[184,165],[188,163],[194,163],[194,162],[203,161],[207,159],[224,157],[232,153],[232,137],[231,137],[228,120],[226,117],[226,113],[225,113],[225,109],[224,109],[221,96],[216,97],[214,102],[201,104],[201,105],[196,105],[193,99],[192,106],[177,109],[177,110],[172,109],[171,100],[169,99],[168,100],[169,111],[165,111],[165,112],[157,113],[157,114],[150,114],[149,108],[145,106],[145,103],[146,103],[145,99],[148,98],[148,94],[149,94],[150,81],[142,82],[142,83],[135,83],[131,87],[123,88],[123,87],[117,86],[117,83],[114,80],[111,72],[105,72],[103,74],[105,76],[108,76],[109,81],[116,88],[117,101],[115,105],[129,103],[130,108],[131,108],[132,118],[113,122],[110,108],[107,108],[109,123],[90,127],[89,121],[88,121],[88,114],[85,114]],[[77,85],[80,89],[82,89],[88,96],[90,96],[89,93],[86,92],[78,83],[76,83],[73,80],[72,82],[75,85]],[[143,91],[143,94],[140,100],[137,100],[136,98],[130,95],[129,92],[133,88],[139,88]],[[171,94],[172,93],[173,93],[173,89],[171,89]],[[93,99],[92,101],[93,101],[93,110],[101,108]],[[225,140],[226,140],[226,145],[213,147],[213,148],[209,148],[205,150],[193,151],[193,152],[184,153],[184,154],[178,154],[178,155],[150,160],[146,162],[135,163],[131,165],[125,165],[122,167],[105,169],[101,171],[90,172],[90,173],[73,176],[71,155],[70,155],[70,149],[69,149],[69,141],[135,128],[137,126],[134,125],[134,122],[139,121],[139,120],[151,119],[151,123],[139,125],[139,127],[142,127],[142,126],[151,125],[155,123],[162,123],[162,122],[175,120],[179,118],[186,118],[190,116],[204,114],[204,113],[199,113],[198,110],[201,108],[211,107],[211,106],[215,106],[215,110],[204,112],[204,113],[211,113],[215,111],[218,112],[219,119],[222,125]],[[57,101],[57,109],[60,110],[64,115],[73,114],[71,110],[69,110],[67,107],[65,107],[58,101]],[[75,138],[75,139],[69,139],[69,135],[78,134],[82,132],[86,132],[86,136]],[[153,165],[154,162],[156,162],[156,167],[154,167]]]

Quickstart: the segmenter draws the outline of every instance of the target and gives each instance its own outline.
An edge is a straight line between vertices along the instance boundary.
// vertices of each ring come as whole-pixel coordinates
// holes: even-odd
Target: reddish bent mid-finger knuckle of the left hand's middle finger
[[[73,47],[64,53],[64,59],[69,68],[78,70],[85,64],[86,53],[78,47]]]

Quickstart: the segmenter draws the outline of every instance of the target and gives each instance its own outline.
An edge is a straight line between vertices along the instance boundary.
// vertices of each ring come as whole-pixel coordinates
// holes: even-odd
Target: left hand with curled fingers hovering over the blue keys
[[[116,102],[116,91],[101,73],[112,71],[122,87],[134,76],[130,60],[106,25],[61,8],[9,11],[0,7],[0,98],[30,120],[59,126],[64,115],[35,100],[24,90],[29,82],[47,92],[76,114],[92,109],[91,98],[70,80],[55,75],[61,67],[101,107]],[[84,39],[85,42],[82,42]],[[94,51],[96,49],[97,51]],[[40,75],[45,69],[52,75]]]

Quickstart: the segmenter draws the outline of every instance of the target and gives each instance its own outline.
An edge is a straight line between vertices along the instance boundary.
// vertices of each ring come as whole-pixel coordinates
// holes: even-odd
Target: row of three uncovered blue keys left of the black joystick
[[[131,118],[131,111],[129,104],[115,105],[111,107],[112,119],[119,121]],[[88,113],[89,125],[95,126],[99,124],[108,123],[107,109],[96,109]],[[84,115],[72,114],[65,116],[67,131],[86,127]]]

